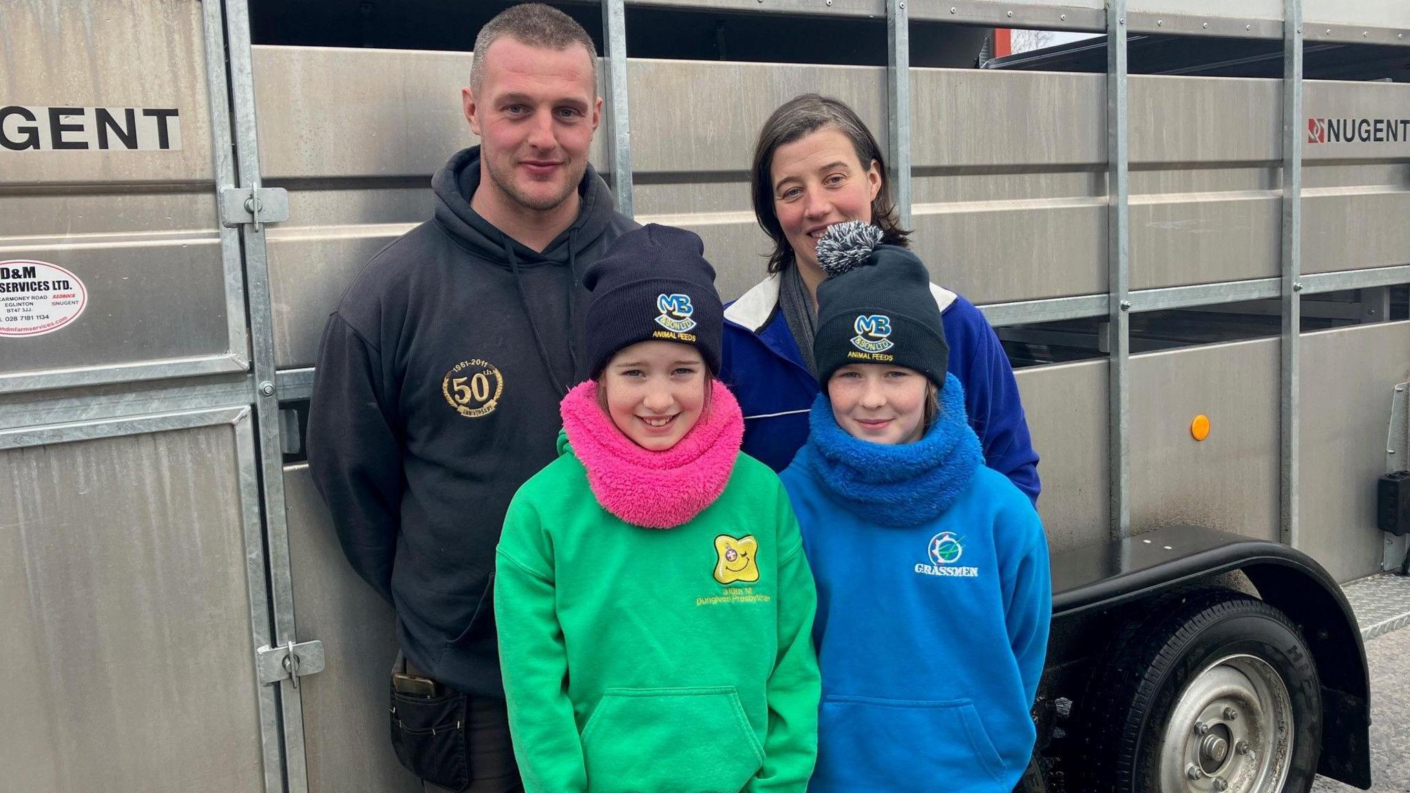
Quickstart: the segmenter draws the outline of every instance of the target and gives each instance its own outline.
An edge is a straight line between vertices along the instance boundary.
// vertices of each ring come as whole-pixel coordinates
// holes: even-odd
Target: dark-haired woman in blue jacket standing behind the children
[[[768,278],[725,310],[723,368],[744,412],[744,452],[781,471],[808,436],[818,395],[816,244],[835,223],[862,220],[883,241],[907,247],[876,138],[850,107],[815,93],[784,103],[764,123],[750,172],[754,216],[774,241]],[[1038,500],[1038,454],[1008,356],[984,315],[964,298],[931,286],[950,341],[949,371],[964,388],[984,461]]]

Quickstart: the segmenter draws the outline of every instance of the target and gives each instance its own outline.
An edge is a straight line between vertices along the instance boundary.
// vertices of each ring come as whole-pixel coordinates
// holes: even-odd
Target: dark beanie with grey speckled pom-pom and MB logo
[[[911,251],[883,246],[881,229],[860,220],[829,226],[818,240],[818,382],[847,364],[912,368],[945,388],[950,347],[931,274]]]

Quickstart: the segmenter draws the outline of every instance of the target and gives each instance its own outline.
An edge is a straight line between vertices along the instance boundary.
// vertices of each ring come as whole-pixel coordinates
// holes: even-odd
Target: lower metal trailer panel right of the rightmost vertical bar
[[[1301,336],[1301,550],[1338,581],[1380,569],[1376,480],[1386,471],[1390,396],[1410,380],[1410,323]]]

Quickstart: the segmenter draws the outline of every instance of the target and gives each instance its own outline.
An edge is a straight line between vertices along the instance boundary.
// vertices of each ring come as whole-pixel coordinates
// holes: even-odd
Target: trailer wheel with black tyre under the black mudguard
[[[1307,793],[1321,691],[1287,615],[1228,590],[1176,593],[1139,611],[1081,708],[1081,789]]]

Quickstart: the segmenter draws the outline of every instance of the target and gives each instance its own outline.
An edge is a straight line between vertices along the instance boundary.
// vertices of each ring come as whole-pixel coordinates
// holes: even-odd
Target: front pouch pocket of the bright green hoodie
[[[739,793],[764,765],[733,686],[608,689],[582,755],[592,793]]]

